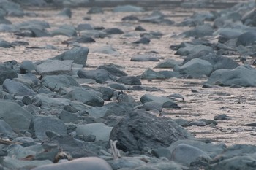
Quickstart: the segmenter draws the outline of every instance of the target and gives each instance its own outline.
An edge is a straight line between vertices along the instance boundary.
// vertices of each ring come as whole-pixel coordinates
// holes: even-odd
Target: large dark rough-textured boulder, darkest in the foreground
[[[117,140],[118,149],[124,152],[168,147],[187,138],[192,138],[191,134],[178,124],[140,109],[128,112],[110,134],[110,139]]]

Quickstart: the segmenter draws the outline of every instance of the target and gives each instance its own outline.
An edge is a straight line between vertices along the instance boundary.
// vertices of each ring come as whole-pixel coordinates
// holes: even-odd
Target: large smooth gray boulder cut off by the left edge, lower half
[[[1,101],[0,117],[8,123],[13,130],[28,130],[32,115],[18,104]]]

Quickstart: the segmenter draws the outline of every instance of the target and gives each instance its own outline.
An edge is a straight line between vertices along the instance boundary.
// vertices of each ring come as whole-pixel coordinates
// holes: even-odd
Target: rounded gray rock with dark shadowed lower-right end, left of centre
[[[94,90],[85,90],[83,88],[76,88],[69,91],[65,98],[70,98],[72,101],[80,101],[83,104],[88,104],[94,107],[102,107],[104,100],[102,99],[102,93]]]

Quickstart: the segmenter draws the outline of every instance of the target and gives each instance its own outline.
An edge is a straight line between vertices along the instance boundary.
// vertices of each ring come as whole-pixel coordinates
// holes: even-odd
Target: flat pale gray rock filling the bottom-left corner
[[[3,157],[0,160],[0,164],[7,169],[29,169],[31,167],[37,167],[42,165],[51,164],[52,161],[22,161],[15,158]]]

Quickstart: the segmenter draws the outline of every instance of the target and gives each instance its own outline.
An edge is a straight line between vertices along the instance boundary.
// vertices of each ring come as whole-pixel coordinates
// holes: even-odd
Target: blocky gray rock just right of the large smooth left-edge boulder
[[[67,135],[67,129],[64,125],[64,121],[47,116],[36,116],[31,120],[29,125],[29,132],[34,139],[41,141],[47,139],[46,131],[54,131],[60,135]]]

